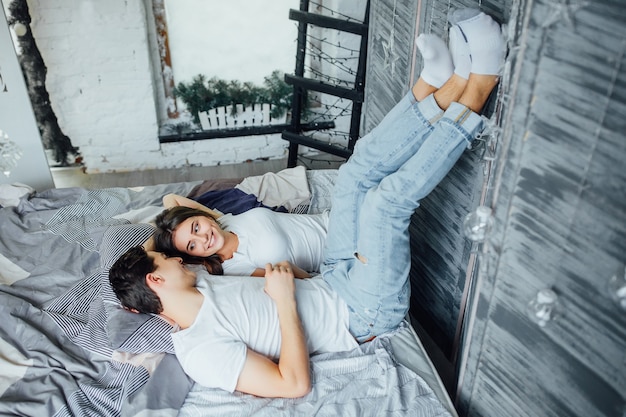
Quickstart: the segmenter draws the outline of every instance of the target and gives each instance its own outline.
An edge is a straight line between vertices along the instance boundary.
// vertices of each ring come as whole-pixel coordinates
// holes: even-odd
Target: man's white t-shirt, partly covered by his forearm
[[[194,323],[172,333],[176,357],[194,381],[234,391],[247,347],[278,359],[281,337],[274,301],[263,291],[265,280],[211,276],[198,272],[204,295]],[[351,350],[357,342],[348,330],[345,302],[321,277],[296,280],[296,302],[309,354]]]

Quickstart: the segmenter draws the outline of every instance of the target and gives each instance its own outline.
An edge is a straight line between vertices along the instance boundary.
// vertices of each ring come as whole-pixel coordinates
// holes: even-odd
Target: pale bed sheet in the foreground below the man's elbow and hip
[[[179,417],[458,417],[416,333],[404,323],[350,352],[311,360],[311,393],[258,398],[194,385]]]

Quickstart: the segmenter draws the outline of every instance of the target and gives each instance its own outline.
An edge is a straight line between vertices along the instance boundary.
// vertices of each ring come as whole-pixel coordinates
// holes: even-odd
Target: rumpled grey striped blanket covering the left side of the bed
[[[191,382],[176,358],[113,348],[105,272],[116,254],[100,249],[138,213],[161,210],[163,195],[195,185],[57,189],[0,209],[0,415],[177,414]],[[137,226],[140,243],[151,230]]]

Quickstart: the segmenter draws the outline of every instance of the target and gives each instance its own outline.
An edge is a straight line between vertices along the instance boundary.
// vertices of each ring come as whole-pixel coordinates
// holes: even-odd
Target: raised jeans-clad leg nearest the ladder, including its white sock
[[[412,94],[407,94],[375,129],[357,142],[352,157],[339,170],[326,239],[327,258],[342,259],[354,254],[358,210],[364,193],[414,155],[432,131],[432,124],[443,115],[431,93],[444,82],[442,88],[446,91],[459,88],[455,97],[462,93],[464,86],[448,86],[453,67],[445,43],[434,35],[420,35],[417,47],[424,57],[424,69]]]

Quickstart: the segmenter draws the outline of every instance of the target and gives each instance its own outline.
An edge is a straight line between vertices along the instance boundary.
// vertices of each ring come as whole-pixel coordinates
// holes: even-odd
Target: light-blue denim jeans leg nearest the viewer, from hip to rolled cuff
[[[365,193],[352,256],[322,268],[324,279],[350,306],[350,329],[359,340],[394,329],[404,318],[411,215],[481,128],[480,116],[452,103],[419,151]]]

